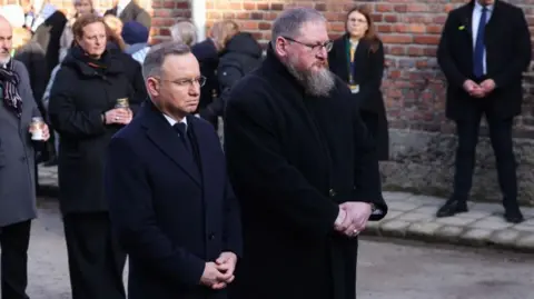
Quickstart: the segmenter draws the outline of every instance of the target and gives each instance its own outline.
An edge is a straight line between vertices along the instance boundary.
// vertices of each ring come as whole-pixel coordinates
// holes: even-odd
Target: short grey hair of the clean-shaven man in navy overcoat
[[[150,51],[148,51],[142,62],[145,81],[149,77],[161,76],[161,67],[168,56],[182,56],[190,52],[189,46],[176,41],[166,41],[150,47]]]

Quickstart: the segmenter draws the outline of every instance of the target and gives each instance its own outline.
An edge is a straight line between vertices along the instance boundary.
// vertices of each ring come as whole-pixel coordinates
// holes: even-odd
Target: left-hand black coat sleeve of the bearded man
[[[303,233],[325,237],[334,231],[339,207],[284,158],[275,120],[267,104],[258,104],[267,101],[266,94],[243,90],[233,89],[225,117],[228,171],[237,196],[276,211],[273,217],[285,218]]]

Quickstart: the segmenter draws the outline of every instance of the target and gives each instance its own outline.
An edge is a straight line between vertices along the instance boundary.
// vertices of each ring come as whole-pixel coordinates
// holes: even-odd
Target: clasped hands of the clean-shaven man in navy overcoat
[[[222,252],[214,262],[206,262],[200,283],[214,290],[220,290],[234,281],[237,256],[233,252]]]

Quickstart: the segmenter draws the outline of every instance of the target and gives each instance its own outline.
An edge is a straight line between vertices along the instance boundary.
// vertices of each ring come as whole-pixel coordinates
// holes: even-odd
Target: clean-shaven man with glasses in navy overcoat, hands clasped
[[[225,299],[240,220],[217,133],[190,116],[206,79],[175,42],[152,47],[142,72],[150,100],[113,137],[105,178],[129,298]]]

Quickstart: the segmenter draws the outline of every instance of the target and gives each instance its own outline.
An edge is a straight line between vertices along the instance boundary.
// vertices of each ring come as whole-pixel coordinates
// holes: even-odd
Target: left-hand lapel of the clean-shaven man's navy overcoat
[[[170,160],[184,170],[199,187],[200,173],[195,165],[192,156],[181,143],[178,134],[172,130],[161,112],[149,100],[141,108],[139,117],[144,119],[144,127],[147,129],[148,138],[158,147]]]

